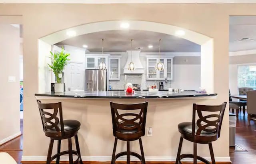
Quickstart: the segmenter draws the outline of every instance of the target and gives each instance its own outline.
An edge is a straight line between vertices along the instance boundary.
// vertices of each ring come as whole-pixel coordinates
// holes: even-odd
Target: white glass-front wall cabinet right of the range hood
[[[147,58],[147,80],[172,80],[172,59],[173,58],[158,58],[148,57]],[[164,70],[158,71],[155,69],[156,63],[164,63]]]

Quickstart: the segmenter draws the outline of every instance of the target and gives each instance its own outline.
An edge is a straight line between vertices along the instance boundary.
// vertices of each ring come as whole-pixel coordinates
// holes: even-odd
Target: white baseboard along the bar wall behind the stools
[[[46,156],[22,156],[22,161],[46,161]],[[204,157],[211,161],[210,157]],[[73,159],[76,159],[74,156]],[[61,156],[61,161],[68,161],[68,156]],[[111,161],[111,156],[82,156],[83,161]],[[146,161],[168,162],[176,161],[176,156],[145,156]],[[126,161],[126,156],[121,156],[118,161]],[[131,156],[131,161],[138,161],[138,158]],[[184,159],[182,161],[191,162],[193,159]],[[230,157],[215,157],[216,162],[230,162]]]

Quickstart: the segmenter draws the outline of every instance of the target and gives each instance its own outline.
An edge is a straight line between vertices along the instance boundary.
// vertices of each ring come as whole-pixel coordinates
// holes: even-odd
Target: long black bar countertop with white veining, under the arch
[[[185,91],[180,93],[169,93],[168,91],[148,92],[135,91],[134,94],[126,94],[124,91],[101,91],[101,92],[47,92],[35,94],[35,96],[52,96],[52,97],[69,97],[69,98],[184,98],[184,97],[201,97],[216,96],[217,94],[203,94],[198,92]]]

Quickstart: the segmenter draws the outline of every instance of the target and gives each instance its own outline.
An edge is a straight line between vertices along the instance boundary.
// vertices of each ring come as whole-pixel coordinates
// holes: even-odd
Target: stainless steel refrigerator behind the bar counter
[[[85,91],[107,91],[107,71],[85,70]]]

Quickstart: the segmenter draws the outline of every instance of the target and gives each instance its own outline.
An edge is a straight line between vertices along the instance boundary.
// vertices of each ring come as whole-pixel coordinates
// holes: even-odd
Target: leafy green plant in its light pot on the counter
[[[64,92],[64,83],[61,82],[62,72],[68,64],[70,54],[65,53],[62,48],[61,52],[51,53],[51,64],[48,64],[52,72],[55,74],[57,83],[54,84],[54,92]]]

